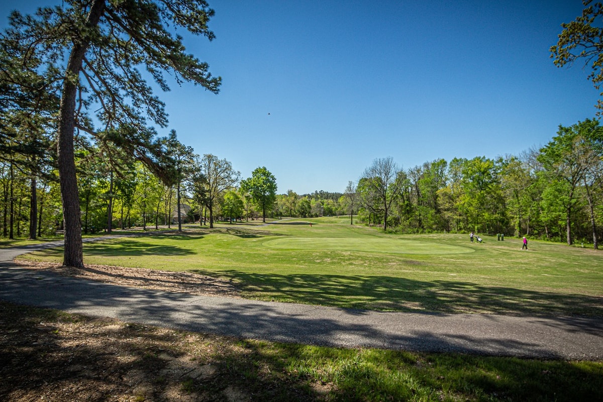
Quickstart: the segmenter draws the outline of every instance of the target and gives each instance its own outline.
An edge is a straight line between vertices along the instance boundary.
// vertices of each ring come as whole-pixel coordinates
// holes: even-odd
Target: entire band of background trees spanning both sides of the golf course
[[[548,144],[520,155],[436,159],[409,169],[391,157],[375,159],[343,193],[305,195],[277,194],[276,178],[265,167],[241,180],[226,159],[195,154],[173,132],[164,140],[176,172],[168,183],[123,155],[121,168],[112,168],[107,160],[119,149],[78,149],[83,233],[160,225],[182,230],[182,222],[212,228],[218,219],[349,216],[350,224],[388,232],[502,233],[595,248],[603,235],[603,127],[596,119],[560,126]],[[43,168],[45,175],[24,166],[15,153],[0,162],[2,236],[62,230],[52,164]]]

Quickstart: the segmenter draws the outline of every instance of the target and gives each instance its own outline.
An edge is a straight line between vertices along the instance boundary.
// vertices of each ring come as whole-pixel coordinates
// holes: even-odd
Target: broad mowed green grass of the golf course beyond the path
[[[312,226],[308,223],[312,222]],[[84,244],[90,264],[197,272],[244,297],[405,312],[603,316],[603,254],[465,234],[383,234],[346,218],[199,225]],[[60,262],[62,251],[28,258]]]

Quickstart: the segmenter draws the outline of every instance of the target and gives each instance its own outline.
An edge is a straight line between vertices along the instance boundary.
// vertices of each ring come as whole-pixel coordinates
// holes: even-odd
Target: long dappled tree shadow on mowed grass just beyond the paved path
[[[224,274],[241,281],[242,292],[262,300],[400,312],[603,316],[603,297],[588,295],[383,276],[250,274],[235,270]]]

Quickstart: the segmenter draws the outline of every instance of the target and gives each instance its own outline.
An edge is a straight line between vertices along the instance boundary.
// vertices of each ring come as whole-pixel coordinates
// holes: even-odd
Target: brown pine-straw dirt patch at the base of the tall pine
[[[83,278],[122,286],[144,287],[157,291],[181,292],[194,295],[241,297],[232,281],[191,272],[157,271],[145,268],[86,265],[85,268],[62,266],[58,263],[15,260],[27,269],[56,272],[67,277]]]

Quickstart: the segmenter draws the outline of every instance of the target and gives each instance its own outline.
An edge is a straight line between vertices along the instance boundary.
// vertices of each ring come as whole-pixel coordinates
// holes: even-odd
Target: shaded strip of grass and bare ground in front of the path
[[[180,389],[183,400],[215,400],[228,399],[227,392],[235,389],[244,391],[241,399],[271,401],[324,400],[326,395],[329,400],[367,401],[434,399],[431,395],[586,401],[599,400],[603,387],[603,367],[597,362],[334,351],[205,334],[183,336],[147,325],[1,302],[0,322],[0,395],[7,400],[52,394],[58,401],[100,402],[107,395],[131,399],[133,389],[139,399],[164,400],[170,390]],[[77,331],[71,329],[73,323]],[[173,391],[171,395],[174,398]]]

